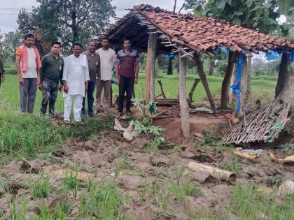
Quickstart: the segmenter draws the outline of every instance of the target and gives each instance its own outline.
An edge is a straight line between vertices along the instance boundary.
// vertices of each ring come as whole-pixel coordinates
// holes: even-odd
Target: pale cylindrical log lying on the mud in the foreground
[[[226,171],[226,170],[221,170],[218,168],[214,168],[211,166],[206,166],[202,163],[195,163],[195,162],[190,162],[188,164],[188,168],[192,171],[195,172],[204,172],[204,173],[208,173],[209,175],[211,175],[212,177],[216,178],[216,179],[221,179],[224,181],[235,181],[237,178],[237,175],[235,173],[232,173],[230,171]]]

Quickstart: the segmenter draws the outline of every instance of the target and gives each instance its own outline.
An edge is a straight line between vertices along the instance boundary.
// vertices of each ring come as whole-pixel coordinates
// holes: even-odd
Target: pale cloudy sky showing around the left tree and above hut
[[[14,31],[18,28],[18,23],[16,22],[18,17],[18,11],[20,8],[25,7],[27,10],[31,9],[32,6],[38,6],[36,0],[0,0],[0,29],[1,33],[7,33],[8,31]],[[139,3],[148,3],[153,6],[159,6],[160,8],[165,8],[172,10],[174,6],[174,0],[113,0],[113,6],[116,6],[116,16],[123,17],[127,13],[125,8],[132,8]],[[183,0],[177,1],[177,10],[181,8]]]

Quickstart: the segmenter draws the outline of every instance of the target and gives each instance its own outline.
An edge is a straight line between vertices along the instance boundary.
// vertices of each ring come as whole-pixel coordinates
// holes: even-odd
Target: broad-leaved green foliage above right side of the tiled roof
[[[195,0],[193,7],[195,15],[219,18],[265,34],[279,30],[275,0]]]

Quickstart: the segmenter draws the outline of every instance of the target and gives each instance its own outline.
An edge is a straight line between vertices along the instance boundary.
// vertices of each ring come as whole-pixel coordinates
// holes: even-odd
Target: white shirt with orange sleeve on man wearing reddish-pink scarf
[[[22,45],[18,47],[15,54],[22,57]],[[22,59],[20,59],[20,71],[22,72]],[[33,47],[27,47],[27,71],[25,73],[22,72],[22,78],[37,78],[37,71],[36,71],[36,53]]]

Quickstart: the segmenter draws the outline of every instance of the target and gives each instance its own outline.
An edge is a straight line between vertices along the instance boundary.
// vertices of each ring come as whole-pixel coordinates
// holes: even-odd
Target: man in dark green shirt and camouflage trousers
[[[58,85],[60,81],[59,90],[62,90],[62,73],[64,62],[62,57],[60,57],[60,47],[59,42],[54,42],[51,45],[51,52],[46,54],[42,59],[41,68],[41,83],[38,88],[42,90],[43,99],[41,102],[41,115],[45,115],[47,110],[47,105],[49,102],[49,117],[54,117],[55,102],[58,94]]]

